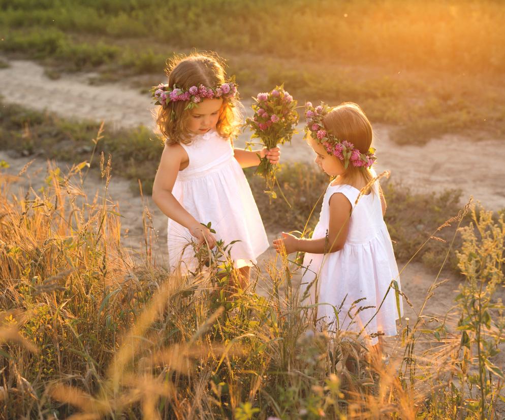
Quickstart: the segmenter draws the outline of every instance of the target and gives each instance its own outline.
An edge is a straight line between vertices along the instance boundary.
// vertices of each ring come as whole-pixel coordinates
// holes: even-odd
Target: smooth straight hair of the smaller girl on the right
[[[333,108],[324,116],[323,124],[341,142],[346,140],[352,143],[361,153],[367,153],[372,145],[372,125],[361,107],[354,102],[343,102]],[[356,167],[349,162],[341,176],[342,181],[352,184],[359,178],[368,183],[373,175],[369,168]]]

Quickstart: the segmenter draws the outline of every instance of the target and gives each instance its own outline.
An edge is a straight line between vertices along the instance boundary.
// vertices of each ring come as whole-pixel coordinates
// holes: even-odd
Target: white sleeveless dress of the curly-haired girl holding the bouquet
[[[211,130],[194,135],[190,145],[181,146],[190,162],[179,171],[172,194],[196,220],[211,222],[218,240],[225,244],[239,240],[231,246],[235,267],[256,263],[268,249],[268,239],[230,140]],[[170,269],[180,266],[183,273],[194,271],[197,260],[193,248],[187,246],[191,239],[188,229],[168,220]]]

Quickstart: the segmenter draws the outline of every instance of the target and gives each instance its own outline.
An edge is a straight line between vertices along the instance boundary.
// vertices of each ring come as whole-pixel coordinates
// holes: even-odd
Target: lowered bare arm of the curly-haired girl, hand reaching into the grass
[[[187,154],[182,146],[178,144],[165,146],[152,185],[152,200],[165,215],[187,228],[200,243],[207,241],[209,247],[213,248],[216,243],[214,235],[189,214],[172,194],[179,169],[187,165],[187,162]],[[202,222],[207,223],[208,220]]]

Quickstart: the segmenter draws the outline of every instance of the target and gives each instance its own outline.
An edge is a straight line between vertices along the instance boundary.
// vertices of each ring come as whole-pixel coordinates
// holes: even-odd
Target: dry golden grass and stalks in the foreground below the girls
[[[231,289],[219,252],[190,277],[152,265],[148,245],[133,260],[117,209],[83,195],[84,167],[51,168],[43,190],[18,196],[0,175],[4,418],[497,418],[503,374],[491,353],[504,323],[475,285],[503,280],[502,219],[474,214],[480,233],[460,252],[462,293],[479,311],[461,298],[452,317],[466,324],[451,331],[421,309],[386,365],[350,332],[313,332],[287,260],[255,270],[246,291]],[[423,357],[416,345],[433,332],[441,345]],[[469,391],[483,372],[489,386]]]

